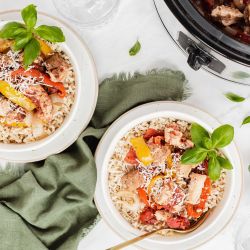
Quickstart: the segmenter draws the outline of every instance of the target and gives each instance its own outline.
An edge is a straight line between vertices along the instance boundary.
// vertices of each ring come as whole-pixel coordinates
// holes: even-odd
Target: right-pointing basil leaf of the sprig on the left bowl
[[[65,37],[63,35],[62,30],[55,26],[41,25],[36,28],[34,32],[44,40],[47,40],[52,43],[65,41]]]

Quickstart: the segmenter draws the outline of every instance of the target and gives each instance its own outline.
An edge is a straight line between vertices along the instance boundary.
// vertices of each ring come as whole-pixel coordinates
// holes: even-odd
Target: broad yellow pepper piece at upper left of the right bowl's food
[[[145,166],[150,165],[153,162],[153,157],[151,155],[150,149],[143,137],[135,137],[130,140],[138,160]]]

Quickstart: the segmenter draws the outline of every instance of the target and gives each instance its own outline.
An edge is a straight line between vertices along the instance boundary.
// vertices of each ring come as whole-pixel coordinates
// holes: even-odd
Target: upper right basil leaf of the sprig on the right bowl
[[[234,128],[229,125],[222,125],[215,129],[211,135],[213,148],[223,148],[231,143],[234,138]]]

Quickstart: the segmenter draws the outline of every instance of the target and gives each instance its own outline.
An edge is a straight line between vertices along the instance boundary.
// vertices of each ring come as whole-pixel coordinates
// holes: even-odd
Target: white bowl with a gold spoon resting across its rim
[[[112,203],[108,190],[108,161],[117,142],[135,125],[156,117],[173,117],[196,122],[212,132],[221,124],[212,116],[192,106],[178,102],[153,102],[137,107],[115,121],[103,136],[97,151],[97,186],[95,202],[107,224],[124,240],[143,234],[133,228]],[[144,249],[183,250],[194,248],[217,235],[230,221],[238,206],[242,188],[242,168],[239,153],[234,143],[223,150],[234,169],[227,172],[224,197],[207,220],[197,230],[186,235],[172,237],[152,236],[137,246]]]

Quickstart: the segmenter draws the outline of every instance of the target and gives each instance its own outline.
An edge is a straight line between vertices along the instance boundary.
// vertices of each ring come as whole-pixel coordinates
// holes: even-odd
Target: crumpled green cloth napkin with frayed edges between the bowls
[[[67,150],[0,171],[1,250],[77,249],[98,215],[93,153],[106,128],[139,104],[181,101],[189,91],[181,72],[163,69],[114,76],[99,93],[90,126]]]

